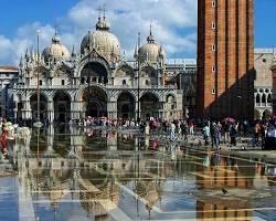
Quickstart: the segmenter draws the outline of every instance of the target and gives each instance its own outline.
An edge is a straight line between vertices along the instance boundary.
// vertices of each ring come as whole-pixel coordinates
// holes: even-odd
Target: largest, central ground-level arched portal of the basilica
[[[107,116],[107,95],[99,87],[88,87],[83,94],[85,116]]]

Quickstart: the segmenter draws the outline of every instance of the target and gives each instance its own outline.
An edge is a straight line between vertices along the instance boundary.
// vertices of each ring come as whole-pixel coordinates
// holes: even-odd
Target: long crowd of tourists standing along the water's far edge
[[[72,122],[73,124],[73,122]],[[138,129],[141,133],[167,134],[169,139],[182,139],[200,136],[204,145],[211,145],[220,148],[221,145],[236,146],[237,138],[251,137],[251,141],[256,146],[265,146],[266,137],[276,137],[275,120],[258,120],[250,124],[248,120],[237,122],[233,118],[223,120],[193,120],[193,119],[173,119],[166,120],[155,117],[148,117],[145,120],[135,120],[134,118],[108,119],[107,117],[87,117],[78,123],[81,126],[104,126],[123,129]]]

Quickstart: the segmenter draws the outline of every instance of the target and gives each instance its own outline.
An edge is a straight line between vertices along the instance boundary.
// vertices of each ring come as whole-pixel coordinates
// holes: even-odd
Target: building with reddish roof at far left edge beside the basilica
[[[13,84],[18,80],[18,67],[0,66],[0,114],[2,117],[13,117]]]

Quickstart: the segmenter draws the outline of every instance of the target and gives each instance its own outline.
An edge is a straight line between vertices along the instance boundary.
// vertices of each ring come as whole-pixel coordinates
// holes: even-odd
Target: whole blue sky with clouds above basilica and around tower
[[[132,55],[137,32],[145,42],[152,22],[157,42],[168,56],[195,57],[195,0],[1,0],[0,64],[15,64],[26,46],[34,49],[36,29],[42,31],[41,48],[50,44],[55,25],[68,50],[78,48],[94,29],[96,9],[104,3],[113,33],[128,56]],[[255,0],[255,48],[276,45],[275,11],[276,0]]]

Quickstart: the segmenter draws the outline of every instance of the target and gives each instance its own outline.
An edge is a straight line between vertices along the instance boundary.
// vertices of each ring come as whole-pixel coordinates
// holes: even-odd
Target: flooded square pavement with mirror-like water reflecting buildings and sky
[[[3,220],[276,220],[276,166],[77,127],[10,144]]]

